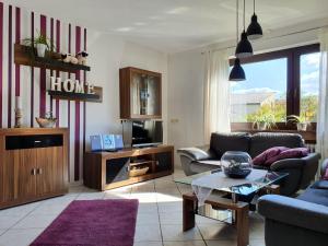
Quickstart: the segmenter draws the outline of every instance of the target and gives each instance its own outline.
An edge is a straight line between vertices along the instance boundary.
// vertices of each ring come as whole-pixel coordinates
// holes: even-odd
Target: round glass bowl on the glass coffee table
[[[221,166],[230,178],[245,178],[253,169],[251,157],[242,151],[227,151],[221,157]]]

